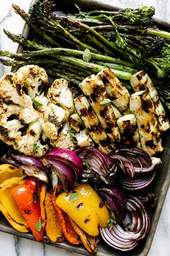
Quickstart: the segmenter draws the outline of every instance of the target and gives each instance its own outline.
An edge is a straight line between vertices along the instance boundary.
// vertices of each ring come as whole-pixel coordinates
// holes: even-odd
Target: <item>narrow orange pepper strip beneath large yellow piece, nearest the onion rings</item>
[[[85,234],[84,231],[82,231],[79,226],[70,218],[68,217],[71,225],[73,226],[73,229],[76,231],[76,233],[80,236],[82,244],[84,244],[84,247],[88,252],[97,252],[97,244],[99,242],[99,239],[95,236],[89,236],[88,234]]]

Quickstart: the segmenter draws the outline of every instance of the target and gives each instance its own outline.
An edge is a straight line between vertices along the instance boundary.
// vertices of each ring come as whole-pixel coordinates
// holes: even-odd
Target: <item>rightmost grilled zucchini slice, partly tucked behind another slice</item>
[[[155,107],[156,116],[158,117],[159,129],[161,132],[165,132],[167,129],[169,129],[170,124],[169,119],[166,116],[166,111],[158,98],[158,92],[148,74],[143,70],[133,74],[130,78],[130,85],[135,92],[146,90],[149,93]]]

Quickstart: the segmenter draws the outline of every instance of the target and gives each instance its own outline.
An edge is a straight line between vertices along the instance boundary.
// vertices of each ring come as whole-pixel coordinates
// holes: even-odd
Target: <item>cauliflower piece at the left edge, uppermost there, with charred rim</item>
[[[31,98],[22,91],[21,85],[14,84],[14,74],[6,73],[0,80],[0,98],[6,104],[17,104],[22,108],[32,106]]]

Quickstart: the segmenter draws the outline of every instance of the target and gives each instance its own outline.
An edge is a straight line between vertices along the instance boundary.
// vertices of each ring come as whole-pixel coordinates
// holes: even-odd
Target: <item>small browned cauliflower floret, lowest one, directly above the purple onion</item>
[[[71,129],[68,123],[63,125],[61,133],[58,135],[57,140],[50,140],[50,144],[54,148],[67,148],[69,150],[75,149],[75,144],[73,143],[73,137],[71,137],[68,132]]]

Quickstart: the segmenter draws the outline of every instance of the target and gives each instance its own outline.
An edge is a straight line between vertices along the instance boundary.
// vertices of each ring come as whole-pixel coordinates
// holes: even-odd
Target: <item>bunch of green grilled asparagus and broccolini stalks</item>
[[[15,4],[12,7],[30,25],[32,36],[26,39],[4,30],[25,51],[1,51],[0,56],[9,57],[1,59],[2,64],[17,68],[37,64],[74,85],[104,67],[123,82],[144,69],[154,78],[161,101],[169,109],[170,33],[154,24],[153,7],[89,13],[78,7],[78,14],[67,17],[55,14],[57,6],[49,0],[40,0],[29,13]],[[125,84],[130,87],[129,82]]]

